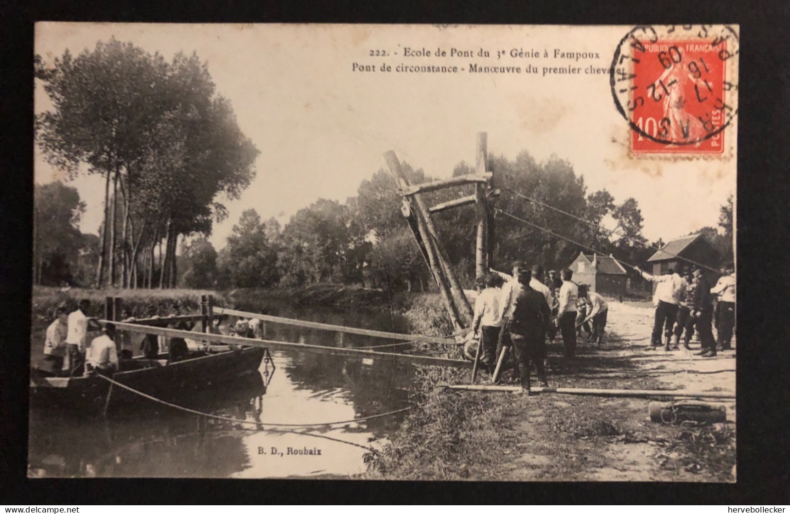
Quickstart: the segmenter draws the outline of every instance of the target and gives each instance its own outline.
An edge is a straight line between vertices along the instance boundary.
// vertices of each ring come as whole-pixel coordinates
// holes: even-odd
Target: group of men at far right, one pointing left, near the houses
[[[660,348],[664,335],[664,350],[690,350],[694,330],[700,340],[700,351],[694,355],[715,357],[717,351],[732,349],[735,330],[735,273],[732,263],[720,268],[720,277],[713,287],[702,273],[702,267],[683,268],[670,264],[663,275],[641,272],[645,280],[656,283],[653,304],[656,315],[649,349]],[[715,304],[715,306],[714,306]],[[713,326],[717,337],[713,337]]]

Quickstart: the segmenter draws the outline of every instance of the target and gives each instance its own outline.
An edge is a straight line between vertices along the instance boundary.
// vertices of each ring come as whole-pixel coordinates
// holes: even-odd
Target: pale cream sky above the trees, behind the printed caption
[[[243,210],[281,224],[319,198],[344,202],[361,181],[385,168],[389,150],[434,178],[475,162],[477,132],[487,132],[489,154],[538,161],[567,159],[588,192],[606,188],[622,203],[638,200],[649,240],[671,240],[717,226],[719,208],[735,193],[735,125],[725,133],[724,156],[630,155],[629,128],[615,110],[607,74],[499,75],[381,73],[407,65],[567,65],[554,50],[598,54],[574,65],[608,67],[627,27],[281,24],[36,24],[36,53],[51,64],[68,49],[79,54],[115,36],[168,60],[179,51],[208,62],[218,93],[229,99],[239,127],[261,151],[256,178],[240,199],[225,203],[228,219],[209,240],[224,247]],[[406,57],[423,48],[471,52],[474,57]],[[478,50],[489,58],[477,58]],[[521,49],[549,58],[510,58]],[[376,50],[386,57],[371,57]],[[496,59],[497,50],[505,58]],[[396,55],[397,53],[397,55]],[[375,72],[354,69],[373,65]],[[36,112],[51,102],[36,84]],[[36,150],[36,184],[64,180]],[[87,210],[83,232],[97,233],[103,181],[70,181]],[[529,194],[529,192],[525,192]],[[470,237],[472,229],[470,227]]]

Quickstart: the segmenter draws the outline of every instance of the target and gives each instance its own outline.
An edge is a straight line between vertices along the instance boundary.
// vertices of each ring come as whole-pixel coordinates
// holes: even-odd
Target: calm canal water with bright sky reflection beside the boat
[[[268,313],[373,330],[408,329],[403,318],[382,311],[269,308]],[[348,333],[340,341],[334,332],[271,322],[266,323],[265,337],[347,348],[397,342]],[[278,351],[272,356],[273,372],[271,364],[261,363],[260,375],[233,387],[207,390],[185,400],[185,406],[259,423],[351,421],[259,430],[254,423],[207,419],[147,400],[115,408],[107,418],[32,408],[28,475],[337,479],[365,471],[370,449],[386,445],[407,412],[353,419],[408,407],[412,365],[300,352]]]

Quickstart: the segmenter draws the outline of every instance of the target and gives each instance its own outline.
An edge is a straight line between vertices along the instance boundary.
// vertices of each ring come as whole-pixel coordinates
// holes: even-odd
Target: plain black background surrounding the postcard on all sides
[[[790,2],[2,2],[0,504],[788,504]],[[738,482],[509,483],[27,479],[36,20],[740,25]],[[614,106],[613,106],[614,108]],[[694,206],[694,191],[679,192]],[[492,449],[495,451],[495,449]]]

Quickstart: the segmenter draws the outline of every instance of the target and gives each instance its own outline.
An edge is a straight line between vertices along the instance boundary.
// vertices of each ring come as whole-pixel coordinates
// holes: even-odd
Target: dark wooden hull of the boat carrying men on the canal
[[[258,373],[265,348],[246,347],[227,352],[211,353],[166,364],[166,360],[130,359],[138,367],[115,373],[113,380],[162,400],[194,393],[250,374]],[[102,405],[110,391],[110,382],[103,378],[45,377],[33,370],[30,378],[31,404]],[[145,397],[115,387],[112,403],[150,401]]]

